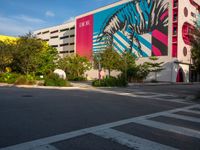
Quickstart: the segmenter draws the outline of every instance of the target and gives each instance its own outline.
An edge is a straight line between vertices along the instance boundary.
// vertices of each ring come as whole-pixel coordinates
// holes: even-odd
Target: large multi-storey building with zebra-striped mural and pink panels
[[[60,53],[71,51],[88,59],[108,44],[119,54],[130,52],[138,63],[157,56],[165,63],[158,80],[189,82],[190,31],[199,11],[200,0],[123,0],[77,16],[75,23],[61,25],[71,26],[74,34],[63,35],[61,26],[35,33]],[[70,42],[61,39],[70,34]],[[63,44],[68,44],[66,49]]]

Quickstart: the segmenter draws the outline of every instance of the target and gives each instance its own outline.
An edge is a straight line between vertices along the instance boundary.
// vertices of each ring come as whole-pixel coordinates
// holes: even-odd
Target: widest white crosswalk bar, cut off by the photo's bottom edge
[[[125,145],[135,150],[177,150],[176,148],[123,133],[114,129],[101,130],[94,132],[93,134],[105,139],[111,139],[119,144]]]

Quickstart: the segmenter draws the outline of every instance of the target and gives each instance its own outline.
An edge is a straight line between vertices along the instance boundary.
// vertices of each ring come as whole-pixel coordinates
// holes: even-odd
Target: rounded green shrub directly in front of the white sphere
[[[58,75],[52,73],[45,78],[44,86],[70,86],[70,84]]]

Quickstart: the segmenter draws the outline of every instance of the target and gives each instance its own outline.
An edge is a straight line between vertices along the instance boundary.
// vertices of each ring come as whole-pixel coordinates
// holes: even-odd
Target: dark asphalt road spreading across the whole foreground
[[[137,139],[136,141],[139,140],[139,143],[148,140],[143,142],[148,146],[150,141],[150,147],[152,146],[151,141],[154,141],[153,146],[160,146],[164,149],[199,150],[199,105],[187,102],[181,97],[177,98],[177,95],[173,97],[169,96],[167,92],[162,92],[167,89],[169,91],[169,87],[165,86],[160,90],[159,87],[151,87],[151,89],[149,87],[141,89],[129,87],[109,90],[45,90],[0,87],[0,150],[21,143],[25,145],[22,144],[25,148],[19,148],[21,150],[30,149],[33,144],[35,144],[35,149],[39,149],[37,147],[39,145],[43,150],[140,149],[138,147],[141,145],[135,146],[132,144],[134,142],[126,143],[124,141],[126,138],[130,138],[129,141]],[[172,89],[177,89],[178,93],[191,91],[190,93],[184,92],[185,95],[191,95],[194,92],[191,87],[180,88],[179,86],[176,88],[173,86]],[[165,95],[160,95],[162,93]],[[187,108],[188,106],[192,107]],[[171,113],[181,113],[180,110],[176,110],[177,108],[183,108],[183,114],[179,114],[179,116],[177,114],[177,116],[182,115],[186,118],[174,118],[174,114]],[[176,111],[168,112],[169,110]],[[159,114],[159,112],[165,112],[164,115],[170,113],[171,116],[162,116],[163,114]],[[155,113],[158,114],[151,115]],[[146,120],[140,122],[135,119],[139,117],[140,120],[140,117],[145,115],[150,115],[148,119],[151,121],[147,120],[146,123]],[[142,117],[142,119],[144,118]],[[121,122],[116,123],[118,121]],[[175,126],[174,131],[164,130],[162,126],[158,126],[160,124],[153,124],[155,121]],[[102,128],[101,125],[106,126],[106,128],[103,126],[105,132],[99,131]],[[168,127],[171,126],[166,126],[166,128]],[[180,129],[178,133],[175,133],[176,127],[177,131]],[[185,128],[189,130],[182,130]],[[79,133],[81,129],[86,129],[84,134],[82,131],[81,134]],[[73,131],[78,132],[74,133]],[[69,132],[73,133],[72,137],[70,137],[71,134],[68,134]],[[184,134],[180,132],[184,132]],[[63,133],[65,135],[60,136]],[[112,137],[113,135],[116,136]],[[44,138],[46,139],[44,140]],[[30,141],[34,141],[32,145],[26,143]],[[40,141],[45,141],[47,144],[38,144]],[[27,148],[27,145],[30,147]],[[12,149],[16,148],[11,147]]]

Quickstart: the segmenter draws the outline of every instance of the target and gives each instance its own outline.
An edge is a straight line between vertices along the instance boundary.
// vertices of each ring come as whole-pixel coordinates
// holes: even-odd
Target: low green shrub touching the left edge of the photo
[[[0,82],[12,84],[15,83],[18,77],[19,74],[16,73],[2,73],[0,74]]]

